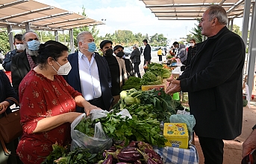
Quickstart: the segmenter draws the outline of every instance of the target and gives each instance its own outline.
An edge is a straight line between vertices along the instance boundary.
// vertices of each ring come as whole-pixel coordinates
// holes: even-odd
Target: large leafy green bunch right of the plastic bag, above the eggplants
[[[116,112],[110,112],[107,117],[95,119],[95,122],[101,122],[102,128],[108,137],[113,140],[122,141],[128,144],[131,140],[148,142],[158,147],[164,146],[165,138],[160,134],[160,122],[157,119],[140,119],[133,117],[123,118]]]

